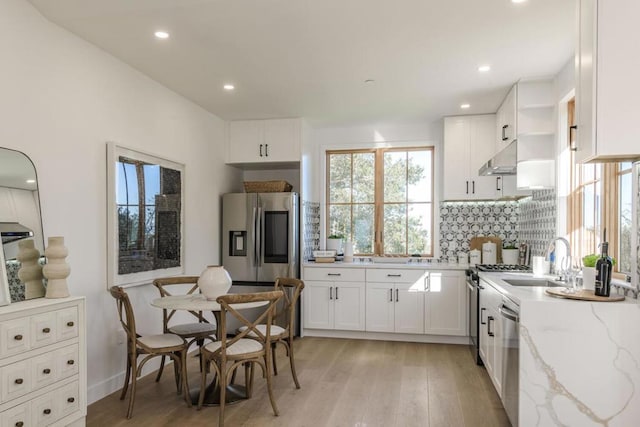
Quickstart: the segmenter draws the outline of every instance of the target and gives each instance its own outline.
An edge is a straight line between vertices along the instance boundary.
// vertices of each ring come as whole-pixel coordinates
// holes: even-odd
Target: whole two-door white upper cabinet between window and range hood
[[[444,200],[493,200],[496,179],[478,170],[495,151],[495,114],[444,118]]]

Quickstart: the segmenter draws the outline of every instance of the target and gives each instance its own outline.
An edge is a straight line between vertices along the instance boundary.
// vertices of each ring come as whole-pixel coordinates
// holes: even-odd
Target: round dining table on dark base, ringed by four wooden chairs
[[[233,304],[233,308],[236,310],[246,310],[249,308],[261,307],[269,304],[268,301],[247,302],[240,304]],[[151,301],[151,305],[157,308],[167,310],[187,310],[187,311],[210,311],[216,319],[216,325],[220,324],[220,304],[216,300],[208,300],[203,294],[191,294],[191,295],[169,295],[166,297],[156,298]],[[216,334],[219,332],[216,331]],[[219,337],[216,337],[218,339]],[[200,396],[200,388],[191,388],[189,390],[191,395],[191,402],[194,405],[198,404],[198,398]],[[240,400],[247,399],[247,390],[244,386],[239,384],[227,385],[227,392],[225,401],[227,404],[234,403]],[[203,405],[215,406],[220,404],[220,389],[219,381],[215,378],[207,386],[204,395]]]

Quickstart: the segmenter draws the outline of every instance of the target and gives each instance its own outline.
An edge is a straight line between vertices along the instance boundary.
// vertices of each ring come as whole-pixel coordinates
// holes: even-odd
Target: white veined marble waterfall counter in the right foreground
[[[577,301],[505,281],[523,277],[480,273],[519,304],[519,425],[640,425],[638,300]]]

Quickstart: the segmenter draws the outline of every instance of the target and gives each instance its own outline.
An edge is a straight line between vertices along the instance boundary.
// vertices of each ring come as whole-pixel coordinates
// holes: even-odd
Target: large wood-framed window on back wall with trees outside
[[[433,255],[433,148],[327,152],[327,234],[356,254]]]

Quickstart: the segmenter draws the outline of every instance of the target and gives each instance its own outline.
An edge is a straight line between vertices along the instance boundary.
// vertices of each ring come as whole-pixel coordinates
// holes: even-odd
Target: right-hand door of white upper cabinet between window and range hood
[[[471,116],[469,130],[470,198],[495,199],[499,197],[495,176],[480,176],[478,170],[491,157],[495,148],[495,115]]]

